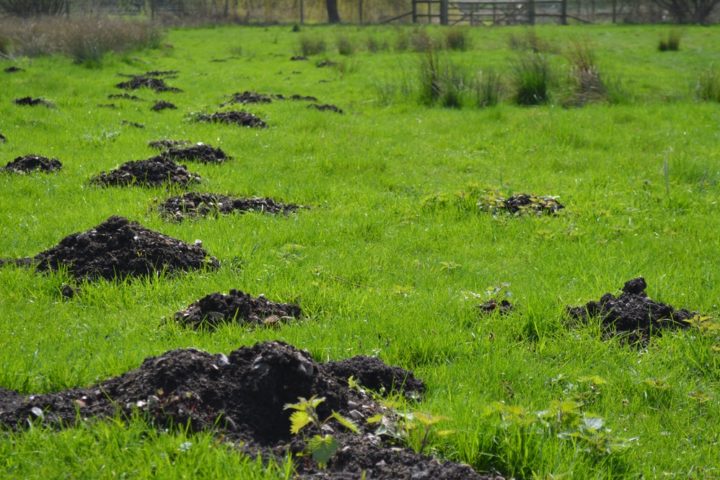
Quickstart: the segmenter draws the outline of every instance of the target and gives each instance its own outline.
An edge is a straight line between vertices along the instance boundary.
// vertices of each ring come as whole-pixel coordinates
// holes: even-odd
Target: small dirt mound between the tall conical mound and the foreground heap
[[[225,323],[272,326],[282,320],[300,318],[300,307],[291,303],[271,302],[264,296],[252,297],[239,290],[228,295],[211,293],[185,310],[175,314],[175,320],[193,328],[216,328]]]

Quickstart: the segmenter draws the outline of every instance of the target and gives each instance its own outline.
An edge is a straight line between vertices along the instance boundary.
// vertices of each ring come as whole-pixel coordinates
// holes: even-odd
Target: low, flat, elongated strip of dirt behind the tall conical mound
[[[217,193],[189,192],[168,198],[158,208],[164,217],[181,221],[186,217],[232,212],[291,213],[300,207],[292,203],[279,203],[271,198],[236,198]]]

